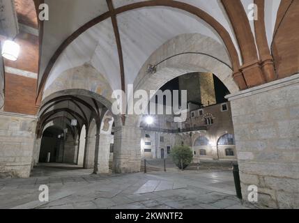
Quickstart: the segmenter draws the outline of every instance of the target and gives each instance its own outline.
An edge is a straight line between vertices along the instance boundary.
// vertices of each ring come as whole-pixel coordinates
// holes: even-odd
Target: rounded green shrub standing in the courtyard
[[[188,146],[174,146],[171,150],[170,156],[176,166],[180,169],[183,161],[183,169],[185,169],[193,160],[192,149]]]

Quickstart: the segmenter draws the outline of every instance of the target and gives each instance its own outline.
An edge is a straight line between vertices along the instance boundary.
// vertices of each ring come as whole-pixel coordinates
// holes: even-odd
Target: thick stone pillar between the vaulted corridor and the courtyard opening
[[[140,171],[141,129],[123,125],[114,133],[114,171],[135,173]]]

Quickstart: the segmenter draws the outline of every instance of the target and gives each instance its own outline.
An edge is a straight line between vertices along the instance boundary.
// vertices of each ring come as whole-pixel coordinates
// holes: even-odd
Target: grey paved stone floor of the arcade
[[[0,179],[0,208],[246,208],[231,171],[93,175],[77,167],[38,167],[27,179]],[[49,202],[38,200],[49,186]]]

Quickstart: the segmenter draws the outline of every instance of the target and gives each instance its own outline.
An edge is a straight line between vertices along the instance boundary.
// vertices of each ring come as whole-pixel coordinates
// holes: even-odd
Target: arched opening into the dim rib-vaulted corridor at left
[[[63,164],[59,168],[69,169],[66,164],[70,164],[86,169],[77,174],[108,174],[113,125],[118,119],[109,113],[105,106],[108,103],[102,102],[100,96],[93,97],[94,93],[84,90],[79,93],[67,90],[45,98],[39,112],[38,135],[47,133],[47,128],[52,126],[59,127],[60,132],[53,134],[52,139],[60,142],[60,150],[55,159],[49,160],[51,166]],[[44,154],[44,145],[40,146],[40,154]],[[45,158],[39,161],[47,162]]]

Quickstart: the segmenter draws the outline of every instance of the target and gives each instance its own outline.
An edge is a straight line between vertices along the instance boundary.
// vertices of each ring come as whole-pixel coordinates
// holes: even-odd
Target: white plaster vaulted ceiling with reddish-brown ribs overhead
[[[45,0],[50,10],[49,21],[44,23],[43,31],[40,91],[43,87],[47,89],[62,72],[82,66],[84,63],[90,63],[96,68],[108,80],[112,89],[121,89],[122,75],[123,83],[134,83],[148,57],[167,40],[183,33],[201,33],[227,47],[220,32],[192,14],[194,10],[203,10],[205,16],[212,17],[217,26],[223,28],[222,34],[227,32],[229,41],[233,43],[237,53],[238,63],[240,66],[243,65],[238,39],[220,0],[155,1],[155,3],[160,2],[158,3],[160,6],[153,6],[154,1],[114,0],[112,1],[114,8],[109,6],[109,2],[106,0],[61,0],[59,2]],[[144,6],[129,10],[134,7],[130,4],[141,2],[144,2]],[[248,6],[254,0],[241,0],[241,2],[244,10],[249,13]],[[187,3],[187,5],[180,9],[178,3]],[[279,4],[280,0],[265,1],[266,38],[269,45],[273,39]],[[116,11],[117,27],[113,23],[113,16],[111,19],[111,15],[114,15],[111,13],[113,10]],[[99,17],[100,15],[102,16]],[[95,19],[96,17],[98,19]],[[90,22],[91,20],[94,23]],[[89,25],[84,25],[88,22]],[[250,27],[255,36],[254,21],[250,22]],[[77,33],[72,35],[75,31]],[[78,33],[80,35],[76,35]],[[59,49],[63,42],[64,47]],[[121,52],[118,50],[120,46]]]

